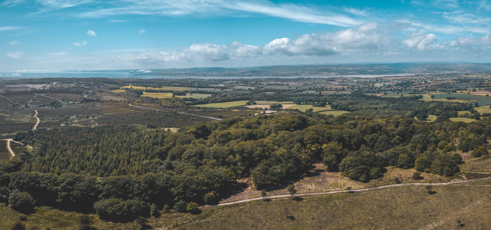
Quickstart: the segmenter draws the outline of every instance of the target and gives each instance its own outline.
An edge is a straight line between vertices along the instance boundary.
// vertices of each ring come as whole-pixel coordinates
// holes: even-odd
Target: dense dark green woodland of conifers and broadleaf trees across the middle
[[[175,133],[136,125],[28,131],[15,139],[34,149],[1,165],[0,197],[95,208],[102,218],[122,220],[153,204],[213,204],[236,179],[250,176],[268,187],[314,162],[364,182],[382,177],[386,166],[454,176],[462,162],[454,150],[487,154],[490,124],[307,111],[233,117]]]

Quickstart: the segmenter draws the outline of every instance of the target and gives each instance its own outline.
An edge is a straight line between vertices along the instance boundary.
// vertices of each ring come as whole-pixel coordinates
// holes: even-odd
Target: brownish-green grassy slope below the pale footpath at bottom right
[[[158,222],[170,229],[465,229],[491,228],[489,185],[399,187],[352,194],[256,201],[204,208],[199,215]],[[283,214],[288,208],[290,219]],[[432,229],[432,228],[429,228]]]

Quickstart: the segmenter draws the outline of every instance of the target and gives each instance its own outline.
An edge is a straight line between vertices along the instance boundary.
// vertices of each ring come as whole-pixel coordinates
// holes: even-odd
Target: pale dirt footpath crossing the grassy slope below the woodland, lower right
[[[483,179],[491,179],[491,177],[480,178],[480,179],[466,179],[466,180],[459,180],[459,181],[452,181],[452,182],[444,182],[444,183],[405,183],[405,184],[390,184],[390,185],[383,185],[383,186],[373,187],[373,188],[363,188],[363,189],[353,189],[353,190],[341,190],[341,191],[318,192],[318,193],[301,193],[301,194],[295,194],[295,195],[288,195],[288,194],[287,195],[277,195],[277,196],[271,196],[271,197],[264,197],[264,198],[258,197],[258,198],[246,199],[246,200],[242,200],[242,201],[234,201],[234,202],[229,202],[229,203],[222,203],[222,204],[217,204],[215,206],[223,206],[223,205],[230,205],[230,204],[239,204],[239,203],[244,203],[244,202],[258,201],[258,200],[263,200],[263,199],[273,199],[273,198],[317,196],[317,195],[335,194],[335,193],[343,193],[343,192],[362,192],[362,191],[370,191],[370,190],[377,190],[377,189],[391,188],[391,187],[425,186],[425,185],[450,185],[450,184],[456,184],[456,183],[466,183],[466,182],[478,181],[478,180],[483,180]]]

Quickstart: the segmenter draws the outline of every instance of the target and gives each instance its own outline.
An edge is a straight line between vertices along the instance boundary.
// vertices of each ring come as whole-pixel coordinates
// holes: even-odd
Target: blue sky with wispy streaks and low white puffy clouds
[[[490,0],[0,0],[0,72],[491,62]]]

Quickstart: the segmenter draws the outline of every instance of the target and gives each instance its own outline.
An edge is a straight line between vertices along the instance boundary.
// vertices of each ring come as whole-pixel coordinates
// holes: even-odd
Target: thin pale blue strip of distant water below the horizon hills
[[[336,76],[303,76],[303,77],[397,77],[397,76],[414,76],[416,74],[386,74],[386,75],[336,75]],[[11,73],[0,73],[0,78],[42,78],[42,77],[107,77],[107,78],[201,78],[201,79],[234,79],[234,78],[266,78],[266,77],[234,77],[234,76],[135,76],[125,72],[11,72]],[[297,76],[288,76],[281,78],[297,78]]]

